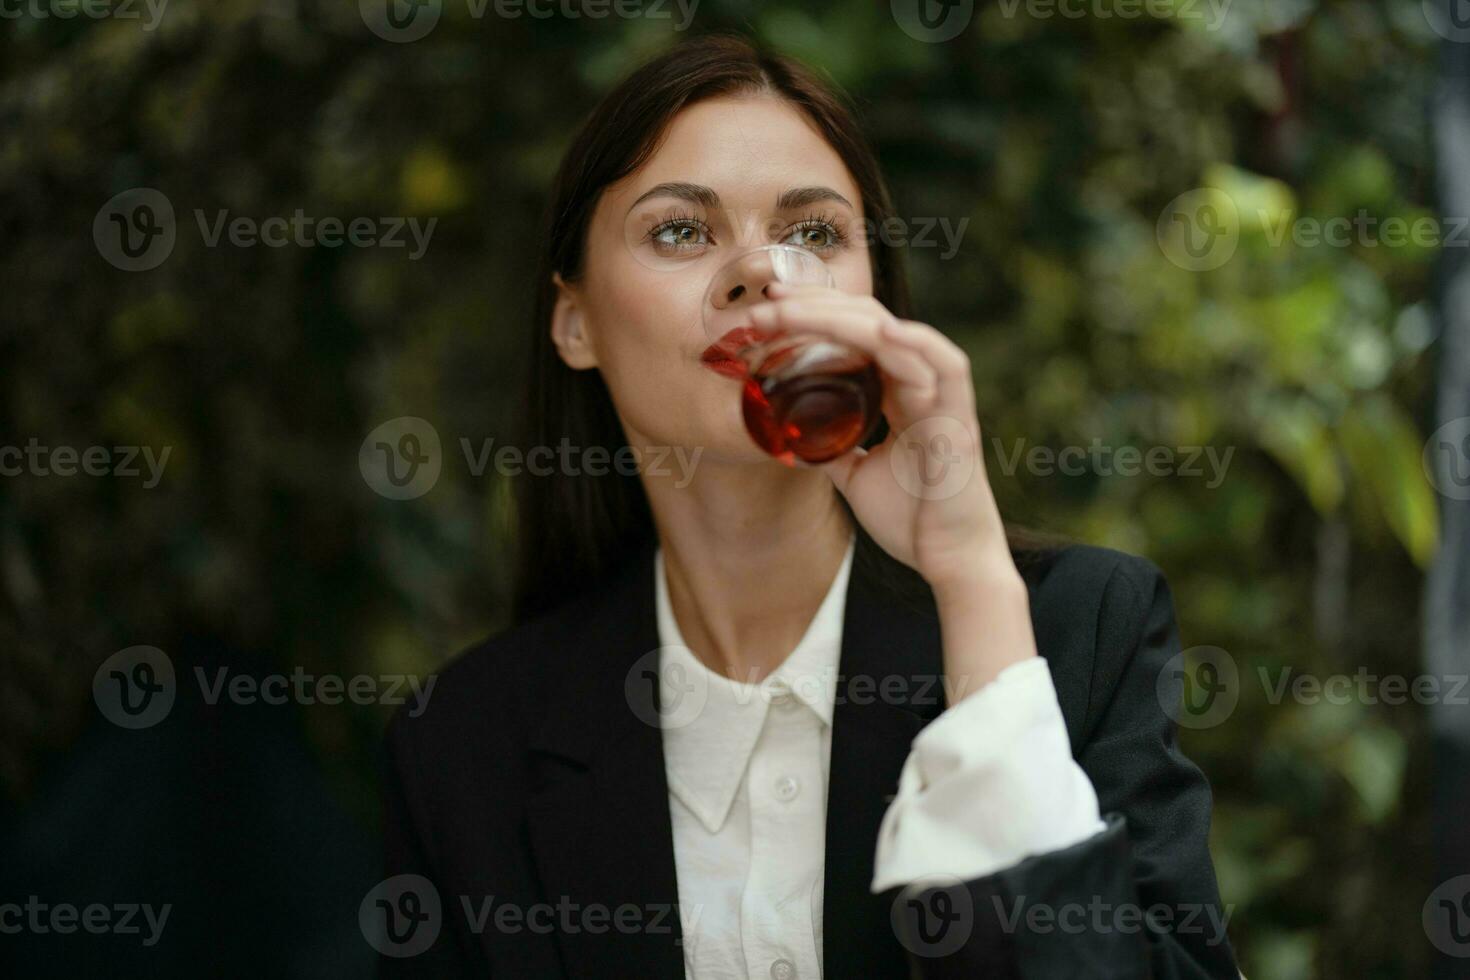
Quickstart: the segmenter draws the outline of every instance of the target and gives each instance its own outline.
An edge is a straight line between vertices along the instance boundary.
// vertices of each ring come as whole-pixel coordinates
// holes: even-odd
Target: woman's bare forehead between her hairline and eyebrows
[[[725,206],[770,209],[789,187],[820,184],[861,209],[836,150],[792,104],[773,96],[709,98],[682,109],[644,166],[607,188],[626,207],[656,184],[703,184]]]

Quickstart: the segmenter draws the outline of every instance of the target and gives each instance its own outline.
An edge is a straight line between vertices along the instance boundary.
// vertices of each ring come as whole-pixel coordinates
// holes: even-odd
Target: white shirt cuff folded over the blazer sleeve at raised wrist
[[[1029,657],[914,738],[878,830],[872,890],[985,877],[1104,829],[1047,661]]]

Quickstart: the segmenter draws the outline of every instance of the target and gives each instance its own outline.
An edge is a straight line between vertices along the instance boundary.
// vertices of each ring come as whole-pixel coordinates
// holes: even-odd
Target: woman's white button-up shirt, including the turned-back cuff
[[[822,876],[847,583],[856,538],[795,649],[760,683],[685,646],[654,552],[660,702],[684,965],[698,980],[822,976]],[[1007,667],[913,741],[879,829],[872,890],[975,879],[1104,829],[1051,673]]]

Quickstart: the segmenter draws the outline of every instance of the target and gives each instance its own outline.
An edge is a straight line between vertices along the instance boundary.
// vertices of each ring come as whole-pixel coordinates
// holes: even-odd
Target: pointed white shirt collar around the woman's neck
[[[772,698],[792,696],[823,724],[832,724],[856,541],[856,535],[848,539],[847,554],[795,649],[759,685],[710,670],[685,646],[669,601],[663,550],[654,551],[660,695],[662,704],[678,704],[660,713],[669,789],[710,833],[729,817]]]

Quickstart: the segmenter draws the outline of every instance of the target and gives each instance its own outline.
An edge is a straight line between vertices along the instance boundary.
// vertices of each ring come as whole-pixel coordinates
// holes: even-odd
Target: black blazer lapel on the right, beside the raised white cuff
[[[907,591],[885,576],[897,576]],[[878,827],[910,742],[944,710],[939,620],[922,583],[858,529],[832,714],[822,914],[828,977],[908,971],[889,918],[892,896],[869,893],[869,883]]]

